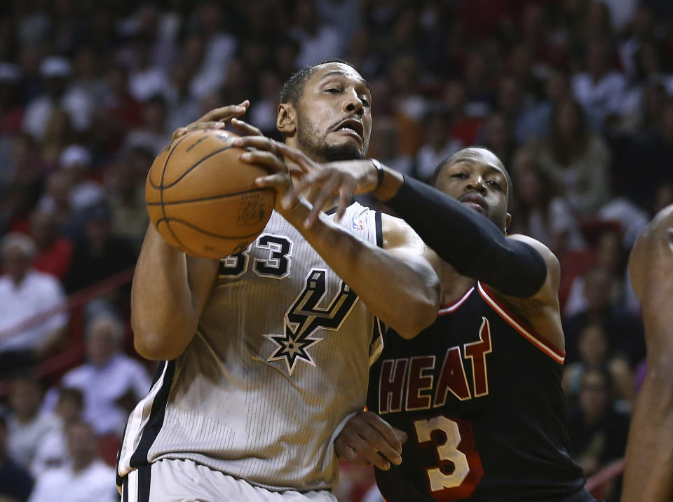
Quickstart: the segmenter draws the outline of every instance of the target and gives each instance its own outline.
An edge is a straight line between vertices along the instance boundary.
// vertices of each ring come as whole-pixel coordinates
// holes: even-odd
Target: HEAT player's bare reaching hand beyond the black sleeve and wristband
[[[354,194],[368,194],[379,184],[379,173],[376,166],[369,160],[339,161],[325,164],[317,163],[308,158],[304,152],[278,143],[276,149],[287,161],[297,166],[299,180],[287,191],[281,203],[292,207],[299,201],[302,191],[309,189],[308,201],[313,210],[306,218],[306,226],[311,227],[325,204],[334,196],[339,197],[337,203],[337,221],[344,216],[346,208],[351,205]]]

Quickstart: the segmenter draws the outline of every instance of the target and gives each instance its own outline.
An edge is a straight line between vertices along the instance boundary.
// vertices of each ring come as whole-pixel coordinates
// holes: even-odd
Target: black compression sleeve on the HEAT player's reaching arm
[[[545,283],[547,263],[537,250],[432,186],[405,177],[386,204],[463,276],[514,297],[531,297]]]

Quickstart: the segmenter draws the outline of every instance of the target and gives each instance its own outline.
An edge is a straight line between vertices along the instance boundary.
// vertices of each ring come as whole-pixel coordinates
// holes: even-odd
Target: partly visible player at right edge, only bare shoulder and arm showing
[[[631,421],[623,502],[673,500],[673,205],[661,210],[629,259],[647,343],[647,375]]]

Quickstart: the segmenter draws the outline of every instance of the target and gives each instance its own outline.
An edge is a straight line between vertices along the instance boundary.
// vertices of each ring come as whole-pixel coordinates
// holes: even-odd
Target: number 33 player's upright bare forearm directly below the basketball
[[[148,359],[170,360],[191,341],[200,311],[189,285],[187,257],[149,226],[131,288],[135,348]]]

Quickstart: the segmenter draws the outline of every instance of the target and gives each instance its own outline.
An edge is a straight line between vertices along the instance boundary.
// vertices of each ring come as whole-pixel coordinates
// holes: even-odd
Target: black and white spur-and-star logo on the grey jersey
[[[319,306],[327,292],[326,278],[325,269],[311,269],[306,276],[304,289],[285,313],[285,333],[264,335],[276,345],[276,351],[273,351],[267,361],[285,360],[290,375],[298,360],[315,366],[308,348],[322,338],[313,334],[321,327],[325,330],[339,330],[341,323],[358,301],[358,295],[342,280],[339,292],[329,306]]]

